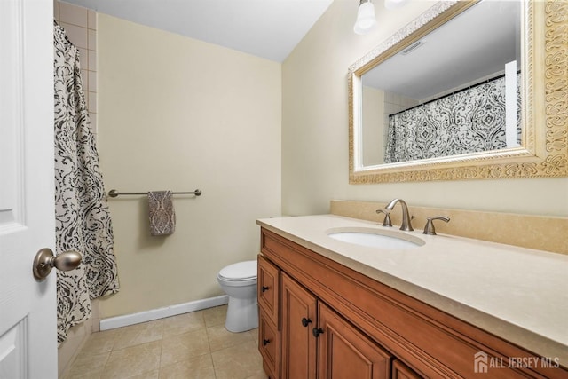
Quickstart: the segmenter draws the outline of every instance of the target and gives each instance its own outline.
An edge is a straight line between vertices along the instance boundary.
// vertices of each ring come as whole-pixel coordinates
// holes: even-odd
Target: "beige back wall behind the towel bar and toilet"
[[[106,190],[171,189],[176,233],[151,237],[144,196],[110,199],[121,291],[101,318],[222,295],[280,214],[281,65],[99,14],[99,154]]]

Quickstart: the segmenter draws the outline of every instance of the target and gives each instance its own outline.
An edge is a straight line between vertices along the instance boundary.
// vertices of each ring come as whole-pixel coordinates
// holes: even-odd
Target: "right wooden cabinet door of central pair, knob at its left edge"
[[[318,303],[319,374],[323,379],[390,378],[390,354],[351,326],[337,313]]]

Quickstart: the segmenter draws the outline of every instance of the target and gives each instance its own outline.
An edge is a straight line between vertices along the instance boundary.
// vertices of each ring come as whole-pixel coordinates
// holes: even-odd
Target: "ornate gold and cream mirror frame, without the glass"
[[[521,147],[363,167],[357,159],[361,75],[476,2],[440,2],[349,67],[349,181],[568,176],[568,2],[524,4]],[[359,130],[360,131],[360,130]]]

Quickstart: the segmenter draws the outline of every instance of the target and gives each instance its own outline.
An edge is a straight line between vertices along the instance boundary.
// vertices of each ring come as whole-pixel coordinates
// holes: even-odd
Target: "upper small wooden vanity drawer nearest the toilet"
[[[258,256],[258,305],[261,314],[280,330],[280,269],[263,256]]]

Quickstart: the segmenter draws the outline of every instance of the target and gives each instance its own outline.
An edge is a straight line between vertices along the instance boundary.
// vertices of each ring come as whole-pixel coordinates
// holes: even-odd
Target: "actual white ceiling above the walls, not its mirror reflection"
[[[282,62],[333,0],[65,0]],[[353,0],[353,6],[358,2]]]

